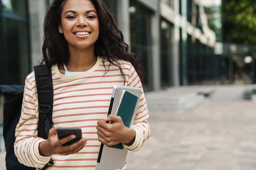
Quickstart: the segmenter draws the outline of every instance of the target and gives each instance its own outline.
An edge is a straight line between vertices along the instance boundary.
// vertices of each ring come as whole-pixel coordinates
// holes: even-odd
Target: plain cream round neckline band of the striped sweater
[[[74,79],[79,79],[79,78],[82,78],[84,76],[87,76],[87,75],[91,74],[92,72],[94,72],[94,70],[97,70],[100,67],[101,61],[102,61],[102,58],[98,56],[97,57],[97,61],[96,61],[96,63],[94,64],[94,66],[92,68],[90,68],[87,71],[83,71],[83,72],[81,72],[80,74],[77,74],[77,75],[64,75],[64,74],[61,74],[60,71],[59,71],[59,68],[58,68],[58,64],[55,64],[53,66],[53,69],[54,69],[55,73],[60,78],[66,79],[66,80],[74,80]]]

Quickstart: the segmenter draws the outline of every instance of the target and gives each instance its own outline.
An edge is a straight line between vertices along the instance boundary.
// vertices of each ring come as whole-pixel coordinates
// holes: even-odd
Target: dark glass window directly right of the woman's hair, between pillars
[[[150,90],[151,79],[150,53],[151,53],[151,30],[150,13],[135,1],[130,2],[130,33],[131,33],[131,51],[141,58],[146,79],[143,88]]]

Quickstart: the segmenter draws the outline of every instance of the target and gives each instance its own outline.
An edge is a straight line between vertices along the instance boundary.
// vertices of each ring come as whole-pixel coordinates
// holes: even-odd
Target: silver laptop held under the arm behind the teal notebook
[[[138,96],[138,99],[140,99],[140,95],[141,95],[140,88],[127,87],[127,86],[114,86],[108,115],[109,114],[115,115],[116,110],[118,108],[119,99],[121,97],[123,90],[126,90]],[[134,110],[134,113],[133,113],[131,125],[133,125],[135,121],[138,103],[139,103],[139,100],[137,101],[137,104],[135,107],[136,109]],[[123,149],[110,148],[105,146],[103,143],[101,143],[95,170],[116,170],[116,169],[122,168],[126,161],[127,152],[128,150],[126,148],[123,148]]]

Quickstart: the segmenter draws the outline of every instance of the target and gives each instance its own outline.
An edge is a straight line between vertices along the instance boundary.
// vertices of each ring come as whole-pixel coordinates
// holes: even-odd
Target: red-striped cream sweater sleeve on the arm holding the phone
[[[37,137],[38,101],[35,95],[36,92],[34,94],[32,92],[34,88],[36,89],[36,87],[31,87],[29,77],[27,76],[22,111],[15,129],[14,152],[21,164],[29,167],[42,168],[49,162],[51,157],[41,156],[38,150],[39,143],[45,139]]]

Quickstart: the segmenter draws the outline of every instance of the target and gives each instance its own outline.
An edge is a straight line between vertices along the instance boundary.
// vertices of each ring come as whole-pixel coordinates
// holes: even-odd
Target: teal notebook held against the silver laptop
[[[122,121],[126,127],[130,127],[137,100],[138,96],[135,96],[128,91],[124,91],[123,98],[120,102],[116,115],[122,118]],[[109,147],[123,149],[123,144],[118,143]]]

